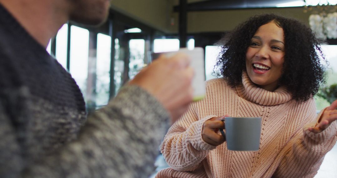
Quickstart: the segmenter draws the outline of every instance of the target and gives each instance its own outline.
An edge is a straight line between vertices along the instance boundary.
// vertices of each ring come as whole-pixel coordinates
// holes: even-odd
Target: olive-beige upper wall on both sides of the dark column
[[[200,0],[188,0],[197,2]],[[178,33],[179,13],[173,12],[178,0],[112,0],[112,9],[165,33]],[[188,33],[223,32],[232,30],[249,17],[276,13],[296,18],[308,25],[310,13],[304,7],[260,8],[239,10],[193,11],[187,13]],[[172,25],[173,23],[173,25]]]

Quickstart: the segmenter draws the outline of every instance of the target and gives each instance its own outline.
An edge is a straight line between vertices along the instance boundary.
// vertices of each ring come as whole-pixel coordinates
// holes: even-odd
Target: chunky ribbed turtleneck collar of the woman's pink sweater
[[[246,71],[242,72],[242,85],[236,87],[239,96],[262,106],[280,105],[292,99],[291,94],[281,86],[273,92],[257,87],[248,77]]]

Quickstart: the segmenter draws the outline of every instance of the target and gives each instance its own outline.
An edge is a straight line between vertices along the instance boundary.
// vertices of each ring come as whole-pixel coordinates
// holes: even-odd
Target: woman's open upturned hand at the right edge
[[[314,133],[320,133],[329,127],[329,125],[337,120],[337,100],[335,100],[331,105],[326,108],[320,117],[318,124],[314,127],[310,127],[308,130]]]

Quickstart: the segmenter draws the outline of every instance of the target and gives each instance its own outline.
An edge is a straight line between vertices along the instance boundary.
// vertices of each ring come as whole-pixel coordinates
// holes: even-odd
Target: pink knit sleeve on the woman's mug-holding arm
[[[177,171],[195,170],[209,151],[216,148],[206,143],[201,135],[204,122],[216,116],[198,120],[194,107],[195,103],[192,103],[180,120],[171,126],[160,146],[167,164]]]

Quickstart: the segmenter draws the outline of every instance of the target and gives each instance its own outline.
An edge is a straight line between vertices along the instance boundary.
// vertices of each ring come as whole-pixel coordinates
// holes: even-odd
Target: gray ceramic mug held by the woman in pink
[[[257,151],[261,138],[261,117],[225,117],[225,132],[220,129],[228,150]]]

